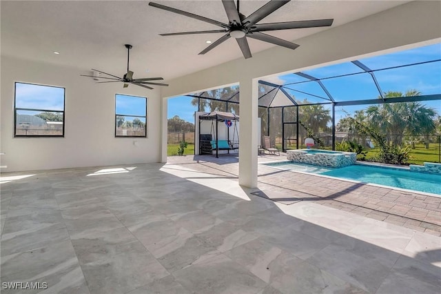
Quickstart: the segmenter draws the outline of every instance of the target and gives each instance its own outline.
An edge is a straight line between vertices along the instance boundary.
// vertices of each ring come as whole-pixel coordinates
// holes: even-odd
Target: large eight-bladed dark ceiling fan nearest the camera
[[[317,28],[322,26],[331,26],[334,19],[315,19],[307,21],[286,21],[277,23],[258,23],[258,21],[264,19],[272,12],[276,11],[278,8],[284,6],[290,0],[271,0],[267,2],[264,6],[260,7],[258,10],[250,14],[248,17],[239,12],[239,0],[237,0],[237,7],[234,0],[222,0],[225,12],[227,12],[228,23],[221,23],[214,19],[208,19],[207,17],[202,17],[201,15],[193,14],[183,10],[178,10],[169,6],[164,6],[158,3],[150,2],[149,5],[174,12],[177,14],[185,15],[186,17],[192,17],[200,21],[205,21],[207,23],[212,23],[216,26],[220,26],[221,30],[199,30],[196,32],[172,32],[167,34],[160,34],[161,36],[174,36],[174,35],[192,35],[192,34],[208,34],[208,33],[223,33],[222,37],[214,41],[210,46],[205,48],[199,54],[203,55],[209,50],[212,50],[220,43],[223,43],[230,37],[236,39],[240,50],[242,50],[243,57],[245,59],[252,57],[251,51],[249,50],[247,37],[252,39],[257,39],[260,41],[265,41],[268,43],[273,43],[278,46],[283,46],[290,49],[296,49],[299,45],[296,43],[291,43],[289,41],[266,35],[263,32],[270,30],[289,30],[293,28]]]

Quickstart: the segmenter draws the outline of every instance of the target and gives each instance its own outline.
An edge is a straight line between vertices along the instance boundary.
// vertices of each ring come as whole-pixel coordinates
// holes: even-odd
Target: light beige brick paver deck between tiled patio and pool
[[[237,155],[169,157],[170,164],[238,177]],[[258,162],[286,160],[284,153],[259,155]],[[320,177],[258,165],[258,188],[289,193],[293,198],[345,210],[382,222],[441,236],[441,197]]]

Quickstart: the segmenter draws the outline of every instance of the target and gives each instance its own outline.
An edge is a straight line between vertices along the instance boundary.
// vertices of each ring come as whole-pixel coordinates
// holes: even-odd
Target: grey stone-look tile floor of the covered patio
[[[314,202],[272,202],[234,173],[170,162],[6,173],[1,182],[2,293],[441,288],[440,237]]]

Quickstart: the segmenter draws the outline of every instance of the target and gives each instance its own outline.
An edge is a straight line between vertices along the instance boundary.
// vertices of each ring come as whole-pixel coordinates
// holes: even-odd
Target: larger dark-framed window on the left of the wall
[[[15,83],[14,137],[64,137],[65,89]]]

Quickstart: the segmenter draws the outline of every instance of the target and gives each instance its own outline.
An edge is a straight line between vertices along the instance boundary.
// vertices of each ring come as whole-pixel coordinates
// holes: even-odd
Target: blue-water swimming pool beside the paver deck
[[[281,161],[265,165],[441,195],[441,175],[415,173],[403,168],[368,166],[365,164],[353,164],[343,168],[328,168],[307,164],[295,164],[291,163],[291,161]]]

